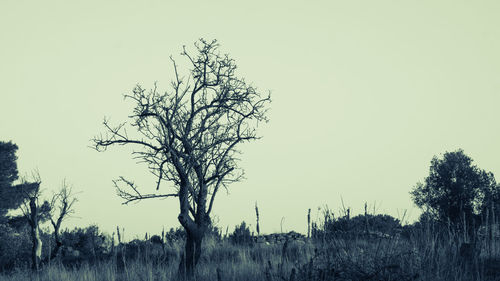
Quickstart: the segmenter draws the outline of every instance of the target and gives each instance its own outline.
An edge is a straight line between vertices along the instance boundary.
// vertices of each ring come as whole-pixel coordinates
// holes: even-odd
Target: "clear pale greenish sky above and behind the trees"
[[[463,148],[500,175],[498,1],[0,2],[0,140],[45,194],[64,178],[79,202],[67,227],[143,237],[178,226],[176,199],[121,205],[112,179],[154,190],[123,147],[98,153],[104,116],[123,121],[136,83],[172,79],[169,56],[217,39],[239,73],[272,92],[263,139],[241,147],[246,180],[220,193],[230,230],[306,231],[307,209],[364,202],[410,220],[408,192],[434,155]],[[168,186],[163,186],[168,188]],[[63,226],[64,227],[64,226]]]

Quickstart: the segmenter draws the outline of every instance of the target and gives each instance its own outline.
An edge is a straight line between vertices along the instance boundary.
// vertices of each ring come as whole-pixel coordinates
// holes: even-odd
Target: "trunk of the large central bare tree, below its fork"
[[[179,263],[179,274],[185,279],[194,277],[196,265],[200,261],[203,236],[204,233],[201,231],[193,232],[186,229],[186,245]]]

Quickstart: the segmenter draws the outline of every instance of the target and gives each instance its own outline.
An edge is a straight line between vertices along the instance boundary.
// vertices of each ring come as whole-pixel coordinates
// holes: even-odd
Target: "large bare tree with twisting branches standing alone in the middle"
[[[257,125],[267,121],[270,95],[236,76],[236,64],[218,52],[218,43],[201,39],[194,44],[196,54],[186,47],[181,55],[190,72],[178,72],[172,60],[171,89],[161,93],[155,84],[146,91],[136,86],[131,94],[135,109],[129,122],[117,126],[104,120],[106,133],[93,139],[95,149],[113,145],[133,145],[133,155],[148,165],[156,177],[156,190],[163,182],[173,191],[143,194],[130,180],[114,181],[117,193],[127,204],[149,198],[178,197],[178,220],[187,233],[181,273],[192,275],[201,255],[203,237],[211,223],[210,213],[220,188],[242,179],[237,166],[237,146],[256,140]],[[127,127],[137,132],[130,136]]]

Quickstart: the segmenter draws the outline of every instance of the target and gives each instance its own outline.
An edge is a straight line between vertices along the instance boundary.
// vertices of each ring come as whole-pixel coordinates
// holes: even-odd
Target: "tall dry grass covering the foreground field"
[[[370,238],[363,235],[329,235],[306,243],[234,245],[208,239],[195,274],[196,280],[500,280],[500,245],[484,237],[474,254],[461,251],[459,235],[431,228],[405,236]],[[148,255],[65,267],[51,264],[39,273],[18,270],[0,280],[177,280],[182,245],[166,244],[163,258]]]

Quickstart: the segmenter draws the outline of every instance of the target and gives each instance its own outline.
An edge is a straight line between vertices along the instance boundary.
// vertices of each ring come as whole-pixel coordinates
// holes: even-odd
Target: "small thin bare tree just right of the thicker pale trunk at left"
[[[59,192],[55,193],[50,200],[50,223],[54,227],[54,240],[56,245],[50,255],[51,259],[57,257],[59,248],[62,246],[59,230],[64,219],[74,213],[73,205],[77,202],[72,187],[64,180]]]

